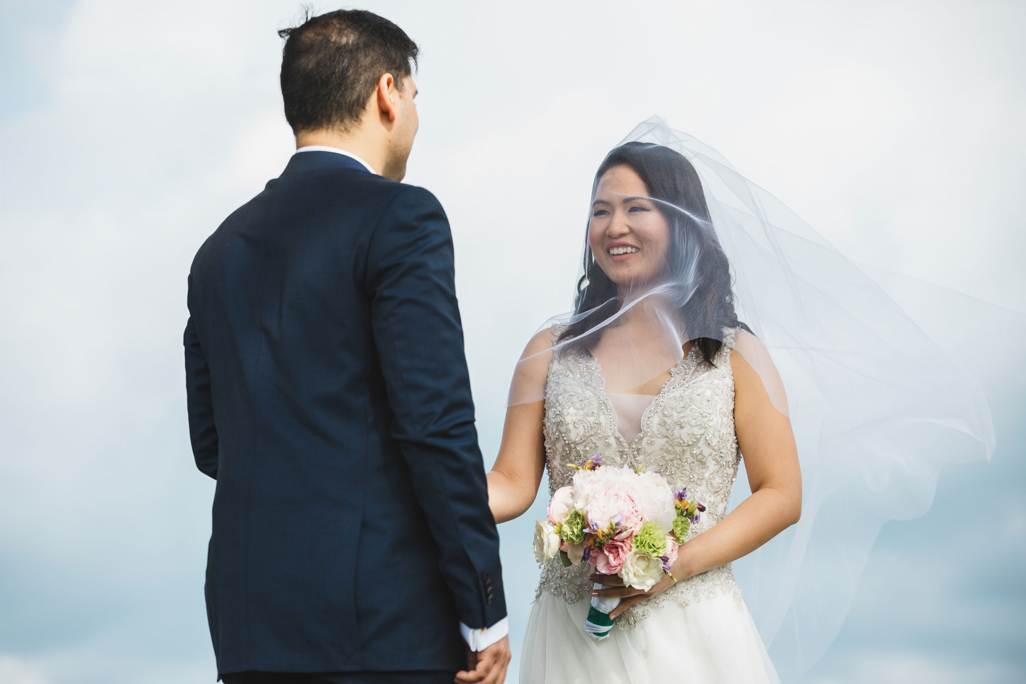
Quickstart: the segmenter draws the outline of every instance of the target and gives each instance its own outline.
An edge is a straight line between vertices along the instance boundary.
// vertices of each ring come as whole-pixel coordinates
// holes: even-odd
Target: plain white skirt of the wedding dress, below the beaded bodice
[[[521,684],[780,683],[748,608],[732,595],[686,607],[667,601],[601,641],[581,629],[588,605],[542,592],[527,621]]]

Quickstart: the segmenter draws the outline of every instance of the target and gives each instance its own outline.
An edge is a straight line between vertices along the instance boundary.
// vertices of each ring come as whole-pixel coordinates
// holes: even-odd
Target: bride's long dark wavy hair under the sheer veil
[[[734,310],[734,292],[731,288],[731,264],[726,260],[711,226],[709,206],[702,192],[702,181],[687,159],[674,150],[654,143],[631,142],[614,149],[599,165],[592,185],[592,197],[598,189],[598,182],[614,166],[626,164],[641,177],[648,194],[670,226],[670,253],[668,262],[679,263],[685,240],[697,244],[698,262],[695,269],[697,289],[683,293],[680,305],[680,319],[686,321],[688,339],[698,346],[702,358],[712,364],[722,346],[723,328],[748,326],[738,320]],[[665,202],[665,204],[664,204]],[[683,212],[674,211],[679,207]],[[694,218],[706,222],[700,225]],[[575,317],[591,311],[570,324],[559,335],[558,342],[580,338],[574,346],[591,351],[598,343],[599,335],[586,335],[588,331],[614,315],[622,304],[618,297],[617,283],[595,263],[591,243],[586,240],[584,253],[584,275],[578,281],[578,292],[574,301]]]

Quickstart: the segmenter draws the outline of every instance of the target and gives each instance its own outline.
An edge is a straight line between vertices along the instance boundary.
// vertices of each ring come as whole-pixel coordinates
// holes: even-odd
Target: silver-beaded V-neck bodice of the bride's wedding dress
[[[554,330],[558,335],[561,331]],[[617,415],[605,393],[594,356],[573,348],[557,350],[545,388],[545,452],[550,496],[570,484],[577,463],[602,454],[613,466],[659,470],[673,489],[687,488],[688,498],[706,506],[688,538],[719,522],[726,512],[741,454],[734,425],[734,375],[731,350],[736,330],[724,330],[723,346],[713,365],[702,362],[697,347],[670,370],[670,379],[641,416],[641,432],[628,444],[617,429]],[[683,553],[683,552],[682,552]],[[538,594],[562,596],[568,603],[588,597],[593,568],[584,563],[564,568],[554,558],[542,568]],[[729,564],[681,580],[621,615],[616,624],[629,630],[648,609],[674,599],[683,605],[721,592],[741,594]]]

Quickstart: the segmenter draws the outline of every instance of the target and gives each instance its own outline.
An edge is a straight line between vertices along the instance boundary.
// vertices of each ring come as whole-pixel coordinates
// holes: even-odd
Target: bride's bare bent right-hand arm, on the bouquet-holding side
[[[738,348],[731,354],[731,366],[734,422],[752,495],[718,524],[680,547],[674,566],[677,579],[750,554],[797,523],[801,516],[798,450],[790,419],[778,410],[780,407],[786,411],[786,398],[773,363],[754,336],[741,333]]]

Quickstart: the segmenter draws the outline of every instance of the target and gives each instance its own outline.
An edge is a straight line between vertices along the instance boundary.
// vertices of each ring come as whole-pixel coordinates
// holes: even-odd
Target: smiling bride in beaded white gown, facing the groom
[[[706,512],[647,592],[587,562],[545,565],[521,682],[780,681],[731,564],[798,521],[801,474],[783,383],[739,319],[732,281],[687,158],[656,143],[609,152],[574,313],[536,335],[517,366],[489,505],[497,523],[517,518],[543,469],[551,495],[569,484],[567,463],[601,454],[660,471]],[[752,493],[727,514],[742,454]],[[592,598],[621,599],[607,639],[583,630]]]

